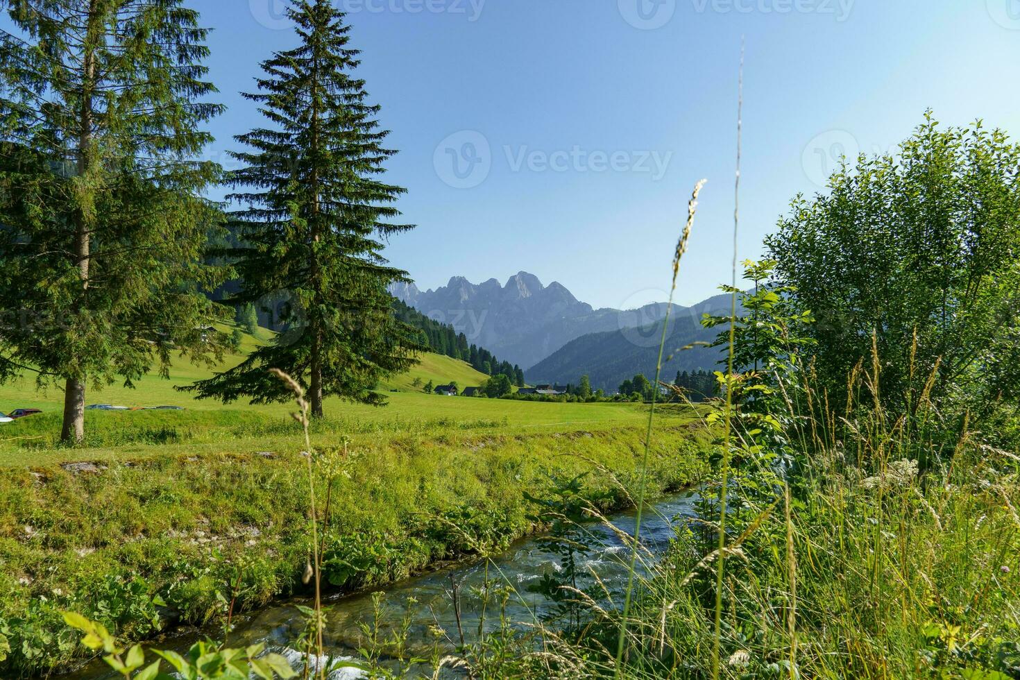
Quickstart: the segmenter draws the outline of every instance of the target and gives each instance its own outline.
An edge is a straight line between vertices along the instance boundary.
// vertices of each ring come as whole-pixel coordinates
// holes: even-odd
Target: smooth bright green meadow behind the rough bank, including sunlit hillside
[[[243,350],[257,342],[258,338],[246,336]],[[233,356],[226,363],[239,360],[239,356]],[[88,411],[86,441],[75,448],[63,448],[58,441],[63,398],[60,390],[39,391],[31,377],[0,385],[0,411],[38,408],[45,412],[0,428],[0,466],[141,459],[164,453],[274,452],[289,444],[294,433],[289,417],[294,410],[291,404],[223,405],[197,401],[190,394],[174,389],[209,374],[205,367],[178,361],[169,379],[148,375],[138,382],[137,388],[116,384],[91,390],[89,404],[130,408],[181,406],[186,410]],[[314,442],[330,446],[344,436],[358,439],[380,434],[441,433],[450,429],[500,433],[596,429],[638,424],[647,417],[646,407],[627,403],[551,404],[439,397],[426,395],[413,384],[415,379],[436,384],[456,381],[463,387],[480,385],[486,377],[462,361],[422,355],[411,371],[380,385],[380,391],[390,401],[387,407],[328,400],[326,418],[313,428]]]

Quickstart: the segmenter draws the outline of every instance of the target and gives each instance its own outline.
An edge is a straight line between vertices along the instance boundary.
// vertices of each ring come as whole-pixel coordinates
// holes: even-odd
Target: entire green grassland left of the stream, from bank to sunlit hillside
[[[259,342],[246,336],[242,351]],[[420,360],[380,385],[389,406],[329,400],[312,426],[317,494],[332,499],[319,518],[332,587],[377,586],[501,550],[537,528],[525,492],[541,494],[553,477],[589,473],[593,491],[611,491],[607,509],[628,503],[646,406],[427,395],[414,383],[486,376],[447,357]],[[209,374],[178,362],[169,379],[90,391],[89,404],[185,410],[87,411],[75,447],[58,441],[59,390],[39,393],[31,379],[0,386],[0,410],[45,412],[0,429],[0,676],[65,668],[83,651],[62,610],[137,639],[175,620],[215,620],[235,595],[250,609],[304,587],[309,478],[295,407],[224,406],[174,389]],[[697,416],[664,409],[656,490],[702,469],[709,437]]]

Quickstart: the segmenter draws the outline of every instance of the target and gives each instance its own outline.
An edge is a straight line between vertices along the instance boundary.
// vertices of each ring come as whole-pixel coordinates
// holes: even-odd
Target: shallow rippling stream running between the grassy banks
[[[661,555],[673,538],[674,527],[682,518],[693,514],[692,506],[697,495],[690,491],[668,494],[649,504],[642,521],[642,542],[653,555]],[[622,532],[633,535],[635,512],[633,510],[613,515],[609,518]],[[584,527],[582,542],[591,551],[580,556],[578,571],[590,569],[610,589],[621,592],[626,587],[627,563],[630,552],[619,537],[601,524]],[[547,550],[538,537],[523,538],[513,543],[502,555],[490,560],[463,562],[442,568],[421,576],[394,583],[374,591],[385,593],[384,616],[380,621],[382,639],[388,639],[395,627],[406,617],[410,619],[407,648],[411,656],[429,658],[436,644],[436,627],[446,631],[441,638],[444,653],[454,651],[459,642],[457,619],[454,612],[452,584],[459,584],[461,601],[461,626],[468,643],[477,637],[481,618],[482,597],[479,590],[489,582],[493,586],[511,585],[516,592],[507,603],[506,615],[512,622],[530,623],[550,611],[551,603],[540,594],[528,592],[527,586],[540,580],[543,575],[560,569],[559,556]],[[592,579],[589,579],[590,581]],[[583,585],[579,584],[580,587]],[[357,649],[364,633],[361,624],[375,619],[372,591],[353,595],[327,595],[323,597],[326,611],[326,625],[323,642],[325,653],[334,660],[357,660]],[[413,598],[413,601],[409,601]],[[287,657],[297,666],[303,660],[301,652],[291,645],[304,630],[304,618],[299,607],[311,607],[308,598],[292,598],[272,605],[266,609],[235,618],[235,628],[227,640],[231,647],[244,647],[264,642],[271,651]],[[494,598],[490,598],[486,615],[484,629],[496,630],[500,625],[500,611]],[[219,631],[207,634],[215,637]],[[171,633],[161,642],[159,648],[184,652],[196,640],[204,637],[203,631],[194,628]],[[164,669],[166,665],[164,664]],[[429,673],[430,674],[430,673]],[[107,680],[120,677],[111,673],[103,662],[96,661],[84,669],[62,676],[65,680]],[[341,669],[329,675],[330,680],[360,677],[359,672]]]

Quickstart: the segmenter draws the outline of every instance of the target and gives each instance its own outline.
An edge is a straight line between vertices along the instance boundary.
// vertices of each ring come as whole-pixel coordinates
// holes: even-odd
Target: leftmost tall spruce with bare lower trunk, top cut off
[[[197,162],[220,107],[206,31],[182,0],[12,0],[0,32],[0,378],[65,394],[82,439],[87,385],[131,385],[170,354],[218,358],[200,289],[217,211]]]

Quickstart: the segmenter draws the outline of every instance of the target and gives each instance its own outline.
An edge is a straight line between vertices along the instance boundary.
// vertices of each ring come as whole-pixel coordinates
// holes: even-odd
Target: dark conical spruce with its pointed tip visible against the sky
[[[288,8],[300,44],[263,62],[258,102],[271,128],[238,137],[249,148],[231,177],[247,191],[232,201],[234,227],[246,245],[237,258],[240,293],[230,302],[256,302],[288,292],[290,330],[238,367],[193,385],[199,398],[253,403],[283,401],[287,389],[268,375],[279,368],[306,382],[312,415],[327,396],[384,404],[379,378],[409,368],[423,350],[419,333],[394,317],[387,286],[407,281],[388,266],[381,240],[410,228],[390,220],[405,190],[382,182],[388,132],[355,77],[359,51],[350,28],[327,0]]]

